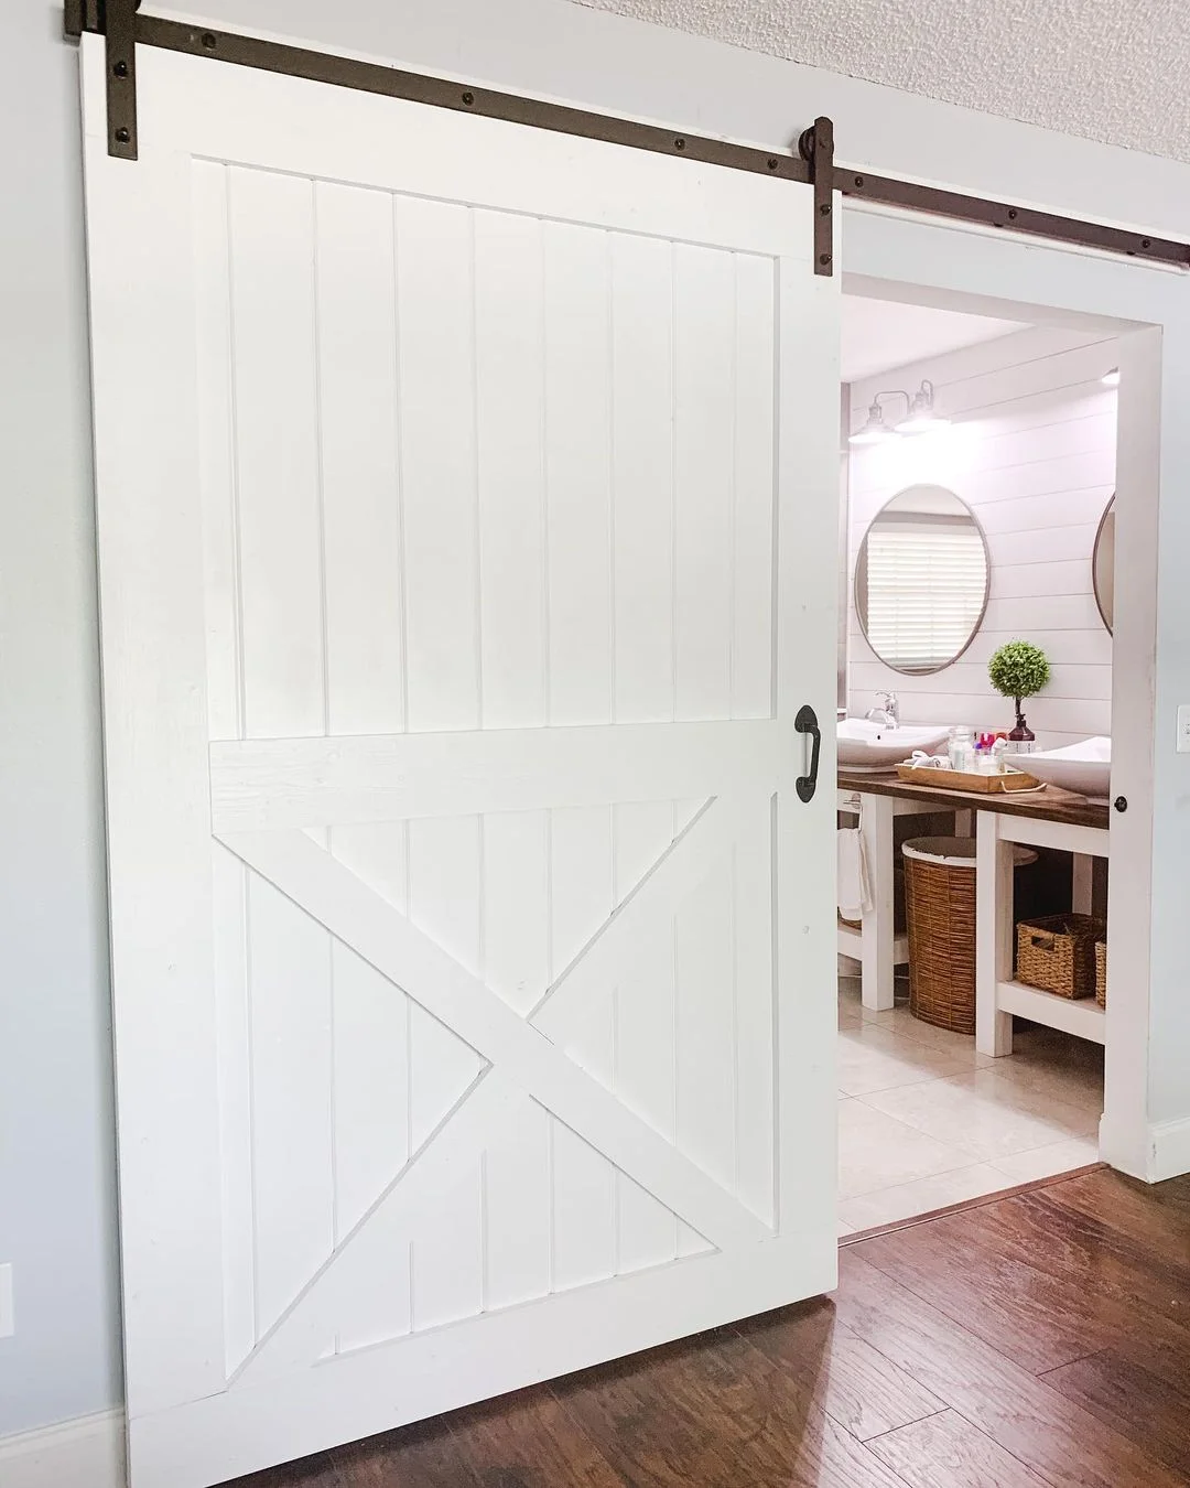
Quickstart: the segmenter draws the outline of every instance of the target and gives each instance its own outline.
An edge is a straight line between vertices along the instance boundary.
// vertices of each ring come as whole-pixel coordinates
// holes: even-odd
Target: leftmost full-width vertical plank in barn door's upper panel
[[[314,190],[237,167],[228,182],[245,732],[323,734]]]

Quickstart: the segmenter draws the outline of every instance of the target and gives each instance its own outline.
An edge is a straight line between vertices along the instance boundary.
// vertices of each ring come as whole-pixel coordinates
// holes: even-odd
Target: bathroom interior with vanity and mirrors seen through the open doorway
[[[1116,342],[860,287],[840,409],[843,1238],[1096,1162],[1108,1027]],[[989,664],[1016,641],[1043,661],[1001,653],[1001,693]],[[1006,768],[1019,793],[970,778]]]

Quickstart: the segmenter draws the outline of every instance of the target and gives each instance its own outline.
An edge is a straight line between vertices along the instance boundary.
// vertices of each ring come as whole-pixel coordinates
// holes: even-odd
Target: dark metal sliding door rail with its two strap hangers
[[[832,274],[834,192],[861,201],[881,202],[909,211],[928,213],[952,222],[1003,228],[1009,232],[1046,238],[1080,248],[1122,253],[1151,263],[1190,268],[1190,246],[1153,238],[1099,222],[1059,217],[1032,207],[1019,207],[983,196],[940,190],[891,176],[870,176],[834,162],[834,129],[830,119],[815,119],[799,140],[797,152],[759,150],[698,134],[677,134],[653,124],[591,113],[541,98],[495,92],[442,77],[400,71],[378,62],[356,61],[329,52],[314,52],[280,42],[213,31],[183,21],[140,15],[140,0],[65,0],[65,34],[94,31],[104,37],[107,61],[107,149],[110,155],[137,158],[137,48],[158,46],[170,52],[205,57],[211,61],[256,67],[263,71],[306,77],[311,82],[356,88],[361,92],[406,98],[436,109],[476,113],[488,119],[605,140],[635,150],[674,155],[687,161],[730,170],[803,182],[814,187],[814,269]]]

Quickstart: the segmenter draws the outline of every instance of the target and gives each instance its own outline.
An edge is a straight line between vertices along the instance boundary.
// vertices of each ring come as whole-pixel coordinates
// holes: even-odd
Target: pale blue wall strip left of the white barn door
[[[0,1436],[119,1400],[74,51],[4,6],[0,89]]]

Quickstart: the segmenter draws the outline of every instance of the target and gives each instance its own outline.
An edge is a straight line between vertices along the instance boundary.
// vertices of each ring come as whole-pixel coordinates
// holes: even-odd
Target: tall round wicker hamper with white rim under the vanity
[[[976,1031],[974,838],[913,838],[901,848],[909,911],[909,1012],[951,1033]],[[1037,860],[1019,848],[1016,866]]]

